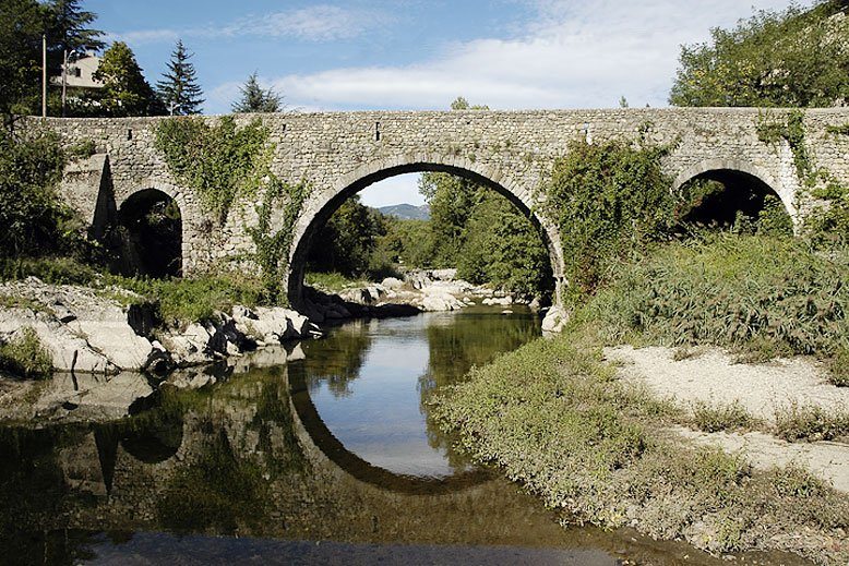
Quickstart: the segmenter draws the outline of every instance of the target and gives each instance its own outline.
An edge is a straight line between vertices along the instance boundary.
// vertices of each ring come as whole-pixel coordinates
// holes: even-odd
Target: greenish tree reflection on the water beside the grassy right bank
[[[428,443],[434,449],[442,449],[453,468],[461,469],[468,459],[450,449],[454,439],[431,418],[428,400],[441,387],[461,383],[473,366],[486,364],[499,353],[515,350],[538,337],[540,329],[539,322],[529,314],[464,313],[451,321],[428,325],[430,361],[428,371],[419,377],[418,388]]]

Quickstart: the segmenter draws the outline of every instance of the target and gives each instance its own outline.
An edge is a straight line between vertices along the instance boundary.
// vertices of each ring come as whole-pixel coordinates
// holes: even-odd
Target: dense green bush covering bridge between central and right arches
[[[661,171],[667,152],[579,140],[555,161],[543,190],[546,212],[567,250],[567,300],[591,293],[610,279],[617,260],[641,253],[674,226],[684,201]]]

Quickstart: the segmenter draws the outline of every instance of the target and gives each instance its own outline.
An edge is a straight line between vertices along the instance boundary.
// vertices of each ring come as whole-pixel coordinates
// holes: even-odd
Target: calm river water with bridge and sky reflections
[[[539,326],[485,308],[357,321],[121,422],[0,427],[0,564],[721,564],[564,529],[452,449],[430,396]]]

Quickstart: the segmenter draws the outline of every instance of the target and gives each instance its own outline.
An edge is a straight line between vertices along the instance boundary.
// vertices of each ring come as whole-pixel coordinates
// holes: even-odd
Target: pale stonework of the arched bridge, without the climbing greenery
[[[754,108],[670,108],[534,111],[368,111],[239,116],[260,118],[275,145],[272,169],[287,182],[304,181],[310,196],[295,226],[290,297],[300,296],[310,237],[351,194],[394,174],[446,171],[481,181],[528,214],[547,240],[553,274],[561,281],[563,257],[558,229],[539,214],[537,189],[563,156],[570,141],[634,140],[678,142],[666,171],[680,185],[698,176],[738,176],[770,188],[799,221],[808,201],[786,141],[758,140],[764,119],[786,120],[789,110]],[[215,117],[206,117],[211,122]],[[154,148],[163,118],[48,119],[64,143],[93,140],[97,155],[72,164],[62,192],[95,227],[128,200],[150,190],[171,196],[182,214],[186,274],[244,256],[253,249],[246,226],[256,221],[255,203],[241,203],[227,225],[214,227],[198,195],[180,186]],[[829,127],[849,123],[849,109],[809,109],[805,143],[814,167],[849,184],[849,136]],[[642,132],[642,134],[641,134]],[[279,219],[275,219],[279,226]]]

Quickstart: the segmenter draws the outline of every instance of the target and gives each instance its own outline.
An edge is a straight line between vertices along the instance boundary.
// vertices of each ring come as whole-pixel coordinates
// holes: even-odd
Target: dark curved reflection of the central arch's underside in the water
[[[315,405],[313,405],[310,398],[309,387],[304,380],[303,365],[290,364],[287,370],[294,409],[292,421],[302,447],[309,449],[310,447],[307,444],[312,444],[318,451],[339,467],[346,474],[381,490],[429,495],[464,490],[492,479],[492,473],[482,469],[475,469],[445,479],[433,479],[394,473],[369,463],[345,448],[327,429],[327,425],[324,424],[319,411],[315,409]],[[316,450],[310,451],[315,453]]]

